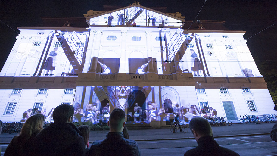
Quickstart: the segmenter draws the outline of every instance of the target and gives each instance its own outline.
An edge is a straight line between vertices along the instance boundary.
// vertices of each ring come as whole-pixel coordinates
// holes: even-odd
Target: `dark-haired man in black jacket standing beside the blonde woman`
[[[54,123],[43,129],[34,139],[34,153],[31,155],[85,155],[82,133],[72,123],[74,108],[61,104],[53,111]]]

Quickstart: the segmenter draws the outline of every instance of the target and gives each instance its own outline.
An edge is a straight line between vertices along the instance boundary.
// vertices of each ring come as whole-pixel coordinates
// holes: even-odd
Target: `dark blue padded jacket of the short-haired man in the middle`
[[[96,140],[89,149],[90,156],[140,155],[139,145],[134,140],[123,138],[123,132],[109,132],[106,139]]]

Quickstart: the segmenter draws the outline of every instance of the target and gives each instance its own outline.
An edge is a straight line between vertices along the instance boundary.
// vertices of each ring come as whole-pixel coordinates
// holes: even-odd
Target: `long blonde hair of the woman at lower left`
[[[44,121],[44,115],[42,114],[35,114],[30,116],[24,123],[19,136],[27,140],[32,135],[38,134],[43,129],[42,121]]]

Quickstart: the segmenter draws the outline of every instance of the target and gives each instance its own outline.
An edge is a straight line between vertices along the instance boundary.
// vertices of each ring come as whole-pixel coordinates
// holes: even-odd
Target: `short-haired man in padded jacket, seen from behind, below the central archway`
[[[103,140],[96,140],[89,149],[89,155],[109,156],[109,155],[140,155],[139,145],[134,140],[123,138],[125,126],[125,112],[122,109],[114,109],[108,121],[110,132]]]

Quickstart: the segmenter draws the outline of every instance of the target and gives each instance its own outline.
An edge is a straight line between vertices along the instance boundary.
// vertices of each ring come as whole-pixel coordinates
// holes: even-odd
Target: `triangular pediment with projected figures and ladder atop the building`
[[[141,5],[107,11],[86,17],[90,26],[148,26],[148,27],[182,27],[185,20],[165,14]]]

